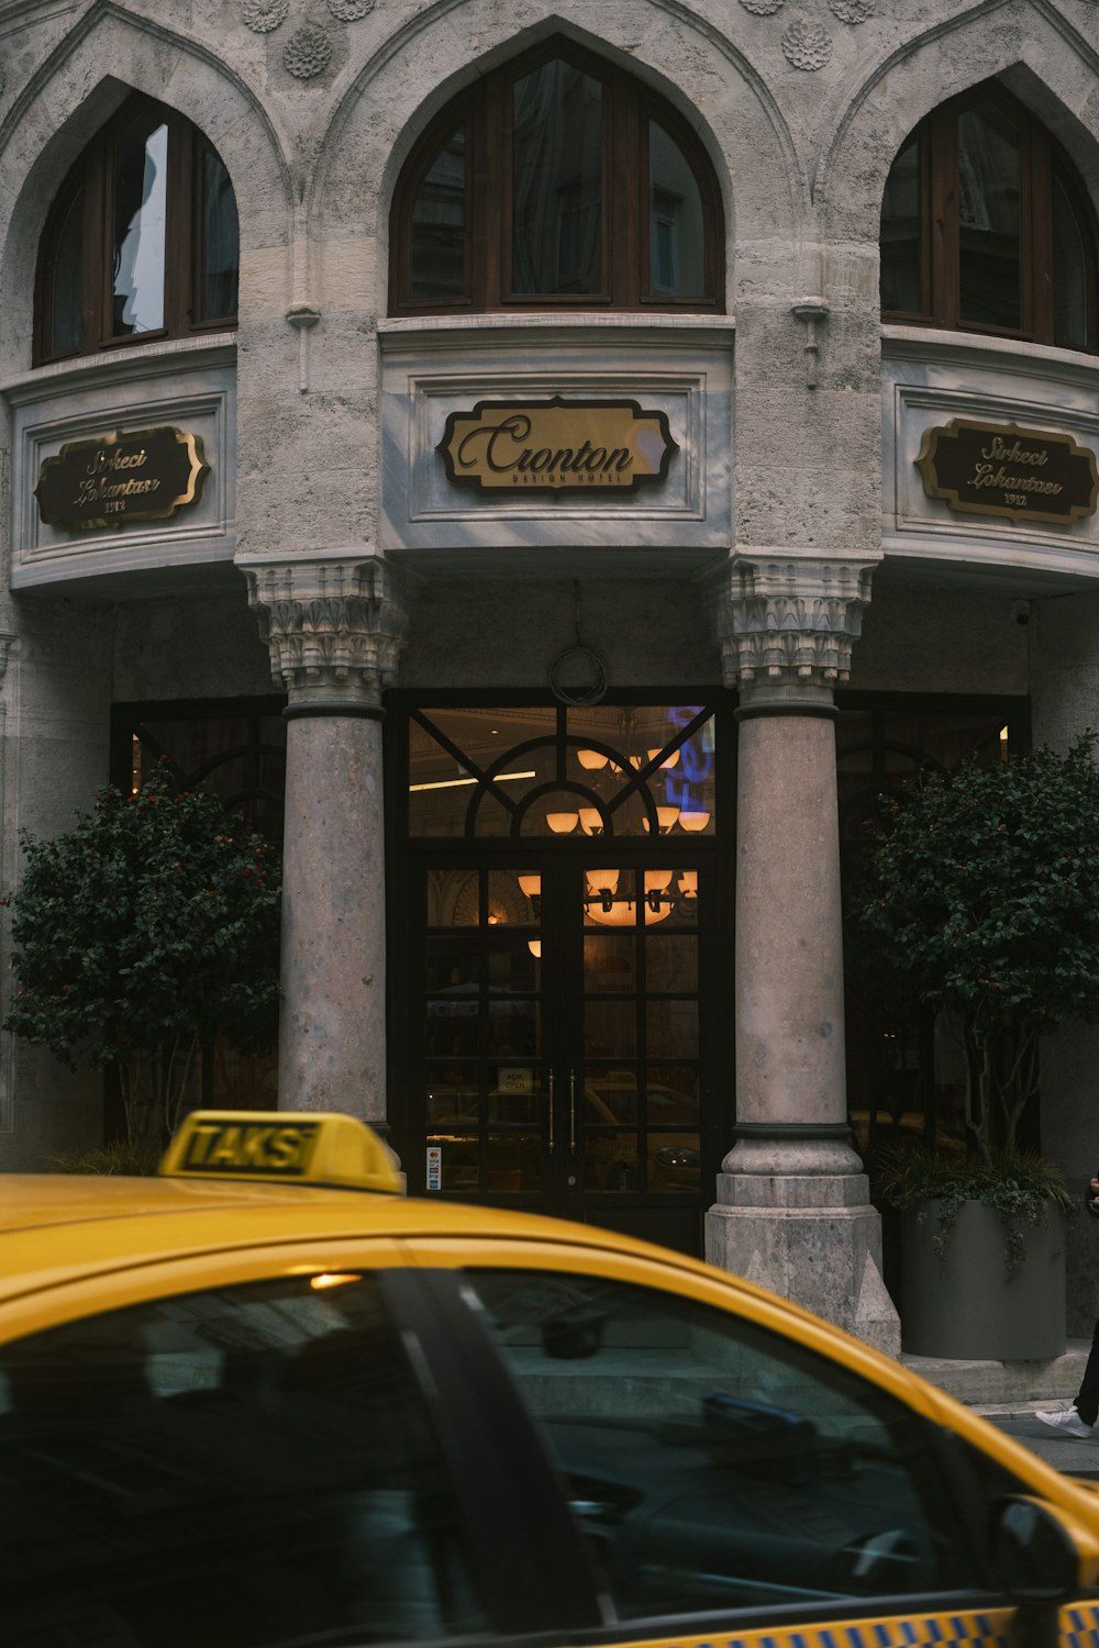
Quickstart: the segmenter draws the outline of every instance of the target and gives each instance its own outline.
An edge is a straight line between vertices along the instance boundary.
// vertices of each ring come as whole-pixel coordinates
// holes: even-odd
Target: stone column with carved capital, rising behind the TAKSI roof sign
[[[246,572],[290,694],[278,1104],[386,1124],[382,689],[407,636],[384,560]]]

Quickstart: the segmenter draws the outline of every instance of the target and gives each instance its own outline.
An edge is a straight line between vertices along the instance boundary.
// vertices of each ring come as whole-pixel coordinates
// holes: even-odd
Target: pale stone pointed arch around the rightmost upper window
[[[898,48],[845,105],[816,176],[825,239],[877,255],[885,180],[905,138],[992,77],[1053,132],[1099,208],[1099,54],[1046,0],[994,0]]]

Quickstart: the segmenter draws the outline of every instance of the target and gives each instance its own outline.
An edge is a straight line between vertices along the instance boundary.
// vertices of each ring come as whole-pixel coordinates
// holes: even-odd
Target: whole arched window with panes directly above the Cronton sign
[[[722,206],[690,129],[554,41],[478,81],[397,186],[390,311],[722,310]]]

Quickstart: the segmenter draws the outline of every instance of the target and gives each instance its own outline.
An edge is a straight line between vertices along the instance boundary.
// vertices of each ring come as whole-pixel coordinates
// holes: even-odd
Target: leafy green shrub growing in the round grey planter
[[[1041,1037],[1099,1022],[1094,743],[921,775],[883,799],[860,865],[853,959],[878,1000],[942,1012],[959,1033],[985,1163],[1015,1150]]]

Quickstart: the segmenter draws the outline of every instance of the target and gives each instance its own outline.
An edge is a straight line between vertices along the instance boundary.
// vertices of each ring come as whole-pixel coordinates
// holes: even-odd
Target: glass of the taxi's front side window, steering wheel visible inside
[[[844,1368],[656,1289],[466,1284],[618,1618],[982,1584],[928,1427]]]

